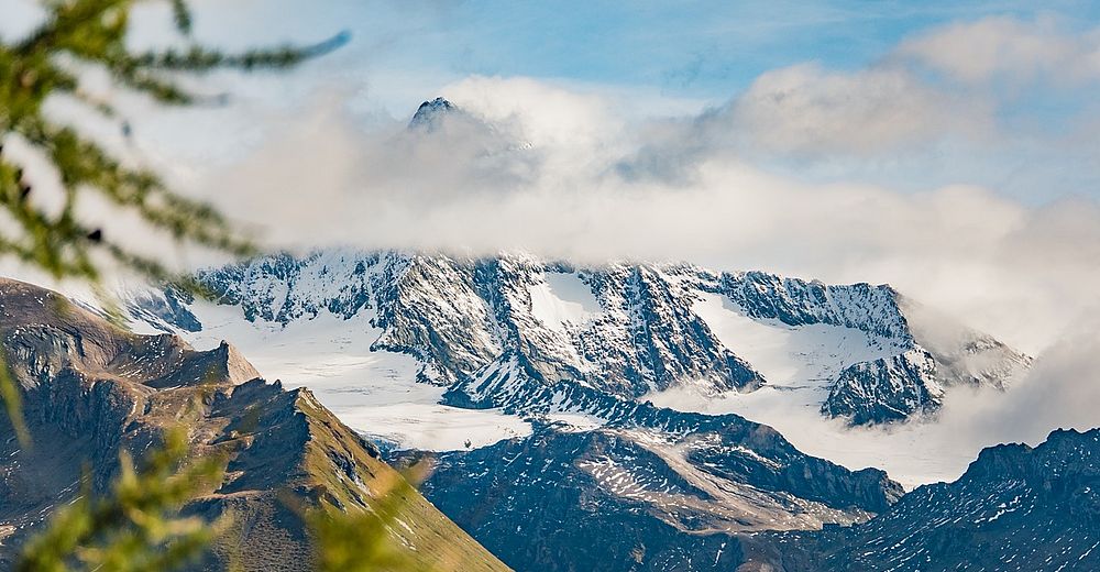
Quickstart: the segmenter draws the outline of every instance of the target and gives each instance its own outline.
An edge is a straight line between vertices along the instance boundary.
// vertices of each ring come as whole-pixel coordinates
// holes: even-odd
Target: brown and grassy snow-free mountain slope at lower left
[[[135,457],[184,424],[194,454],[226,454],[224,481],[186,510],[233,513],[234,528],[204,569],[238,558],[248,570],[308,570],[312,541],[287,504],[326,501],[370,510],[402,479],[376,448],[306,389],[268,384],[232,346],[195,351],[178,337],[135,336],[54,293],[0,279],[0,337],[23,394],[33,449],[0,428],[0,558],[51,510],[118,473],[118,451]],[[406,498],[394,541],[421,566],[505,570],[418,494]],[[294,504],[292,502],[290,504]]]

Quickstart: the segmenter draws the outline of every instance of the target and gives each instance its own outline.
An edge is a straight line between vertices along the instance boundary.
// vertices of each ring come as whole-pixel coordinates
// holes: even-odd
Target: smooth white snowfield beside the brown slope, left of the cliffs
[[[349,427],[406,449],[447,451],[530,435],[522,419],[495,409],[439,405],[444,387],[417,383],[409,355],[372,352],[381,333],[370,316],[350,320],[322,312],[314,319],[249,322],[235,306],[197,302],[199,332],[179,332],[196,349],[235,345],[267,380],[308,387]],[[152,330],[148,331],[152,333]]]

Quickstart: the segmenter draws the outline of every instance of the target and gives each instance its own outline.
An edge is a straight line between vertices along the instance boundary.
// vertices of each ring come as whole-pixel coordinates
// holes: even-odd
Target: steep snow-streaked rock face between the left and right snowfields
[[[548,274],[568,276],[598,307],[579,321],[540,315],[531,288],[546,288]],[[715,389],[759,382],[691,312],[688,293],[649,268],[593,274],[526,257],[327,252],[260,258],[200,279],[250,320],[371,312],[383,334],[364,341],[417,356],[421,376],[443,385],[469,380],[505,351],[525,355],[544,378],[583,380],[627,397],[695,376]],[[157,323],[148,304],[132,306]]]

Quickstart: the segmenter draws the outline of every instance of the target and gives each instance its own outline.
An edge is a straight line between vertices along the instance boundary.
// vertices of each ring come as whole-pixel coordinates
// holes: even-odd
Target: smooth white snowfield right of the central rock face
[[[848,427],[843,420],[822,417],[821,404],[836,374],[854,363],[897,354],[900,350],[892,340],[855,328],[755,320],[722,295],[704,295],[693,309],[724,344],[737,348],[741,358],[763,373],[768,385],[717,396],[684,385],[647,395],[654,405],[680,411],[734,413],[776,428],[812,455],[851,470],[882,469],[906,488],[953,481],[977,455],[980,447],[946,439],[935,424]]]

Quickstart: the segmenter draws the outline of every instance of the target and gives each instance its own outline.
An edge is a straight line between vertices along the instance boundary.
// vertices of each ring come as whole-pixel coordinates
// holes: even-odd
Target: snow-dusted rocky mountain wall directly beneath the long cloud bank
[[[684,386],[704,395],[773,386],[809,392],[824,415],[877,424],[934,413],[946,387],[1001,388],[1030,363],[988,336],[930,318],[888,286],[758,272],[329,251],[199,277],[257,323],[364,317],[381,331],[360,343],[415,356],[420,380],[454,386],[453,403],[470,407],[507,405],[562,381],[627,399]],[[170,290],[131,304],[163,330],[201,330],[187,308]],[[508,385],[507,399],[471,391],[513,358],[532,383]]]

